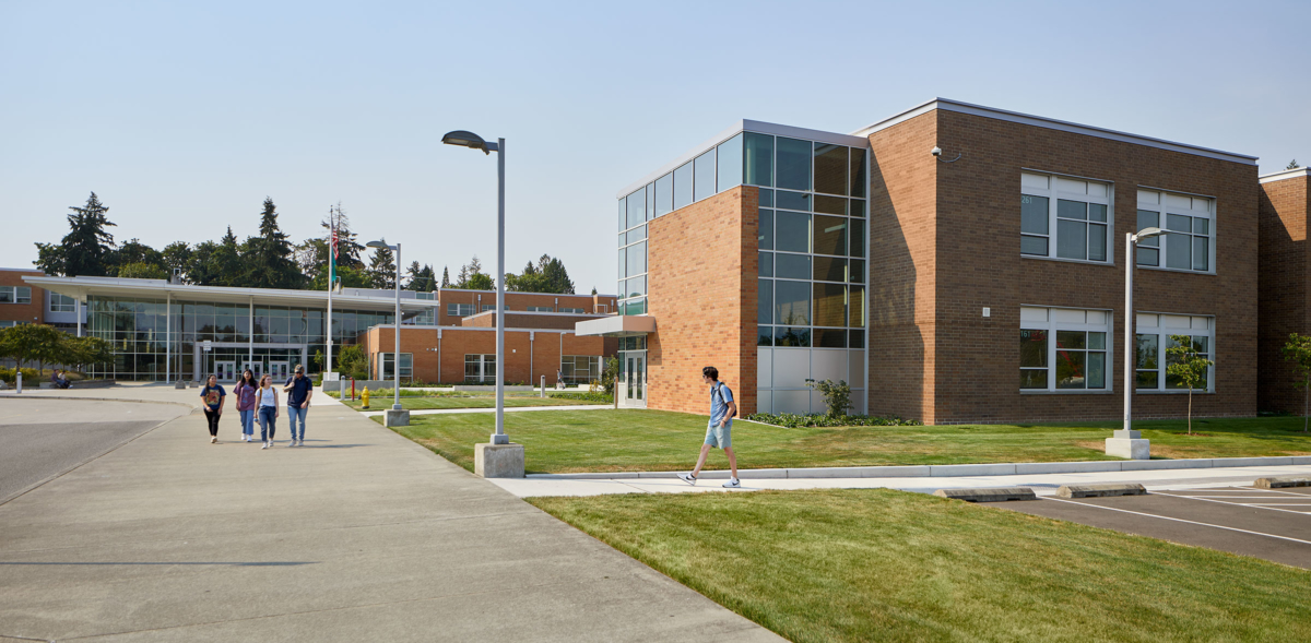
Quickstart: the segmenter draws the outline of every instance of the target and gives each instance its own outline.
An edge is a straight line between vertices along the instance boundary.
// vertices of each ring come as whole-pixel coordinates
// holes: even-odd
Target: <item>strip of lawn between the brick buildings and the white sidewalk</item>
[[[380,406],[382,407],[382,406]],[[380,418],[378,418],[382,422]],[[705,416],[650,410],[534,411],[505,416],[506,432],[526,449],[528,473],[669,471],[690,469],[705,436]],[[396,427],[447,460],[473,470],[473,444],[493,432],[490,414],[414,415]],[[745,469],[863,465],[950,465],[1116,460],[1104,453],[1113,422],[1045,426],[779,428],[733,426]],[[1301,418],[1138,422],[1156,457],[1311,454]],[[713,450],[711,468],[726,468]]]

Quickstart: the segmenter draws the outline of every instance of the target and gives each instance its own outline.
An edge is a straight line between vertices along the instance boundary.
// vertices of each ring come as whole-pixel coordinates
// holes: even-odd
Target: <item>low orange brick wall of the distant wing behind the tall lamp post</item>
[[[378,352],[392,352],[396,337],[391,327],[375,326],[363,338],[363,350],[370,364],[376,364]],[[561,354],[561,346],[564,352]],[[433,348],[431,351],[429,348]],[[460,384],[464,381],[464,355],[494,355],[496,333],[475,329],[442,329],[440,352],[437,329],[406,327],[401,333],[401,352],[414,355],[414,377],[426,382]],[[505,331],[505,381],[548,385],[556,382],[556,369],[561,355],[612,355],[614,340],[599,337],[576,337],[573,333]],[[440,371],[438,369],[440,355]],[[530,371],[531,365],[531,371]]]

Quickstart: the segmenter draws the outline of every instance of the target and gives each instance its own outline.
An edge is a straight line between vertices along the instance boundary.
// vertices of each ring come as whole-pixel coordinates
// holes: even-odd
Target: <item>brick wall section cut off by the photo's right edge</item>
[[[1307,280],[1307,212],[1311,194],[1307,175],[1261,183],[1260,193],[1260,317],[1257,380],[1262,411],[1301,414],[1304,393],[1293,386],[1298,377],[1282,348],[1290,333],[1311,333]]]

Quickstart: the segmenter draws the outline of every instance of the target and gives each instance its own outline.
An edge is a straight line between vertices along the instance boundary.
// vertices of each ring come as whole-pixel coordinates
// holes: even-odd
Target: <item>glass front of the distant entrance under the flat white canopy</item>
[[[114,360],[93,367],[93,376],[118,380],[164,381],[168,372],[165,356],[169,318],[165,300],[87,297],[88,329],[93,337],[110,342]],[[319,308],[265,306],[249,304],[178,301],[172,303],[173,377],[190,378],[194,372],[195,346],[214,343],[254,344],[256,356],[269,355],[261,346],[305,344],[309,363],[305,369],[319,372],[316,352],[326,350],[324,317]],[[359,334],[370,326],[392,323],[392,313],[367,310],[333,310],[333,352],[342,346],[357,343]],[[214,356],[223,356],[241,364],[249,356],[243,347],[214,348]],[[290,358],[290,356],[288,356]],[[299,359],[299,354],[295,356]],[[203,377],[205,373],[202,373]]]

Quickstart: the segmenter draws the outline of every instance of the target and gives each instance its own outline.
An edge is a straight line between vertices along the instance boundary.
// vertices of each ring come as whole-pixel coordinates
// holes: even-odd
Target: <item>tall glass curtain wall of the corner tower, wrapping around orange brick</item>
[[[648,309],[648,221],[758,186],[760,410],[823,410],[808,377],[846,380],[864,409],[868,174],[863,147],[745,131],[619,199],[620,314]],[[787,368],[776,376],[780,351]]]

